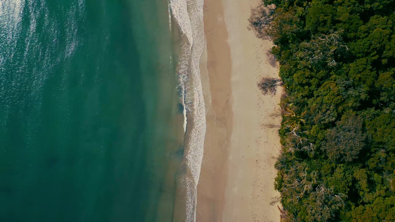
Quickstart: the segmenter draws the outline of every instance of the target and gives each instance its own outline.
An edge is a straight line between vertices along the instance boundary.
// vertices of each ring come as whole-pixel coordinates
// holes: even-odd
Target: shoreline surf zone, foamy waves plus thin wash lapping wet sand
[[[206,132],[205,103],[209,101],[205,95],[208,77],[204,56],[203,0],[189,4],[186,0],[170,0],[168,6],[170,24],[177,24],[181,40],[176,72],[184,117],[184,147],[175,179],[179,187],[175,192],[172,221],[194,222]]]

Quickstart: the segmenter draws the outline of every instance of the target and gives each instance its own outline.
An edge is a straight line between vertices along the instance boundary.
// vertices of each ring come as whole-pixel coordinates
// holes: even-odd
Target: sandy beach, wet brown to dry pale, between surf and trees
[[[250,8],[259,0],[205,0],[207,70],[211,104],[198,184],[196,220],[278,222],[273,188],[280,150],[280,89],[263,95],[262,77],[278,77],[269,64],[268,40],[247,29]]]

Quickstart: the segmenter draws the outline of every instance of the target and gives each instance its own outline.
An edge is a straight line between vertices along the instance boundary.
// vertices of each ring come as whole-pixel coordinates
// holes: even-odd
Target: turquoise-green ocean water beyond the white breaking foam
[[[167,0],[0,0],[0,221],[171,221]]]

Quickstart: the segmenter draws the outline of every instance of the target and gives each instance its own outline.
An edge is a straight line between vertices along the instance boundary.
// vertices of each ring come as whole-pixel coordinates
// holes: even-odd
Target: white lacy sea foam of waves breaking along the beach
[[[188,143],[184,148],[188,174],[183,181],[187,193],[186,221],[194,222],[196,220],[196,191],[206,133],[205,103],[199,70],[205,45],[203,0],[169,0],[169,8],[183,37],[177,68],[180,100],[184,107],[184,130],[188,124],[186,134]],[[189,119],[187,119],[187,114]]]

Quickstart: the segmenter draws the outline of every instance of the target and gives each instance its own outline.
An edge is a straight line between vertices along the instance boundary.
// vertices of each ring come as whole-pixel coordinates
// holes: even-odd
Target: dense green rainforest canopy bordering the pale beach
[[[252,9],[282,81],[261,86],[285,90],[275,165],[282,221],[395,222],[394,10],[394,0],[266,0]]]

